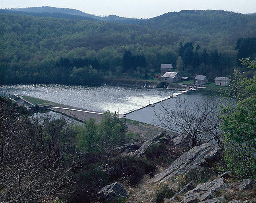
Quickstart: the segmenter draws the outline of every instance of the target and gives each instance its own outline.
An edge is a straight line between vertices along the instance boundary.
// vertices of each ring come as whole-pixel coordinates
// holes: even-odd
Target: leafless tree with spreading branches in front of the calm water
[[[219,104],[206,97],[199,102],[177,99],[175,108],[161,103],[161,112],[155,112],[154,123],[165,129],[184,134],[192,139],[192,147],[204,142],[221,146],[220,121],[217,118]]]

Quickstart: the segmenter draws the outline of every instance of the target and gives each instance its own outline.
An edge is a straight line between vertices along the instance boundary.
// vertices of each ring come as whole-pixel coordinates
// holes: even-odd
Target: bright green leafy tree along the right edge
[[[242,65],[256,69],[256,59],[241,60]],[[223,158],[226,169],[240,178],[256,179],[256,77],[247,79],[235,70],[227,96],[221,106],[224,136]]]

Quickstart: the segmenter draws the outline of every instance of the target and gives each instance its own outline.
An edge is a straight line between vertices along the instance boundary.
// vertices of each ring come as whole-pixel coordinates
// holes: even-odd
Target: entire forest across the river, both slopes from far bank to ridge
[[[163,63],[173,63],[184,76],[213,80],[230,76],[239,58],[256,53],[256,15],[180,11],[143,19],[141,25],[0,15],[4,84],[156,79]]]

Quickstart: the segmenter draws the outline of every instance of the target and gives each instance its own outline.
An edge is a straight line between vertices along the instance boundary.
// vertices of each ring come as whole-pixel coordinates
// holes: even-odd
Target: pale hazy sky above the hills
[[[256,0],[0,0],[0,8],[52,6],[93,15],[151,18],[181,10],[225,10],[255,13]]]

